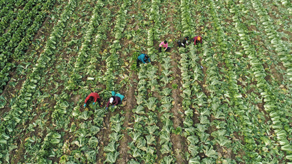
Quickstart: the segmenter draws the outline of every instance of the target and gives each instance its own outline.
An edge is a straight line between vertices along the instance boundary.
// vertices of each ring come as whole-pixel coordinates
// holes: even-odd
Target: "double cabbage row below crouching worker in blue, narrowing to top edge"
[[[149,20],[153,22],[147,30],[147,46],[149,47],[147,53],[152,61],[155,51],[154,40],[157,39],[155,36],[157,36],[159,30],[156,27],[156,25],[159,25],[159,4],[160,1],[152,0],[151,10],[149,11]],[[132,157],[128,161],[130,164],[142,162],[155,163],[158,157],[156,146],[158,144],[159,127],[157,126],[158,115],[155,113],[158,99],[153,96],[154,92],[159,90],[157,86],[157,70],[155,66],[141,64],[138,72],[138,95],[136,96],[138,106],[132,110],[134,112],[133,128],[130,128],[128,133],[132,138],[132,142],[129,143],[130,155]]]

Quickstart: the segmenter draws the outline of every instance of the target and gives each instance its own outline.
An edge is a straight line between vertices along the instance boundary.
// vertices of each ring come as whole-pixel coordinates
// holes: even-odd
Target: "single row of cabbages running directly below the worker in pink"
[[[174,24],[171,21],[168,20],[175,20],[175,18],[178,18],[178,16],[174,16],[173,14],[176,12],[175,8],[172,8],[172,6],[175,6],[175,3],[180,3],[180,2],[172,2],[173,4],[169,5],[169,3],[162,2],[162,14],[160,14],[160,39],[163,40],[168,40],[169,46],[171,47],[171,52],[163,52],[158,53],[158,67],[160,71],[158,74],[160,75],[159,81],[158,81],[158,87],[159,91],[158,93],[160,96],[158,97],[160,101],[158,104],[160,107],[158,107],[158,116],[159,116],[159,122],[160,122],[160,133],[159,133],[159,145],[158,147],[160,148],[160,163],[180,163],[180,161],[177,161],[177,158],[182,158],[181,156],[182,150],[175,149],[173,146],[173,143],[175,139],[172,137],[174,136],[173,133],[175,131],[173,127],[173,118],[175,117],[174,113],[171,112],[173,105],[175,103],[180,103],[180,102],[175,102],[173,96],[173,90],[171,89],[171,86],[173,84],[173,80],[175,79],[175,74],[171,70],[173,66],[171,65],[171,55],[178,55],[177,51],[173,50],[175,47],[173,46],[173,41],[169,40],[169,38],[165,38],[168,34],[173,34],[173,30],[171,29],[164,29],[162,27],[171,27],[171,24]],[[169,6],[169,10],[165,10],[165,6]],[[165,13],[164,13],[165,12]],[[174,54],[173,54],[174,53]],[[177,132],[181,131],[180,126],[177,127]],[[180,140],[176,140],[180,141]],[[177,145],[179,145],[178,143]],[[183,159],[180,159],[183,161]]]

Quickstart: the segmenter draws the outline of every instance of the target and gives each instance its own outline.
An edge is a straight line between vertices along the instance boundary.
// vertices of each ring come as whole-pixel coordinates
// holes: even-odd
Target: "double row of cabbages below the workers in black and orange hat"
[[[186,2],[182,1],[181,10],[184,12],[188,12],[189,10],[184,7],[185,3]],[[193,6],[193,8],[195,11],[198,11],[200,6],[195,5]],[[207,11],[204,10],[204,12]],[[183,29],[194,28],[191,27],[193,24],[187,24],[183,22],[184,19],[190,19],[190,22],[194,21],[192,19],[193,17],[186,16],[188,16],[188,14],[182,13]],[[198,20],[195,20],[197,22],[197,25],[201,25],[203,20],[200,19],[200,17],[197,18]],[[190,34],[193,36],[193,33],[191,33],[191,31],[184,30],[184,36],[188,36]],[[202,51],[202,49],[199,49],[199,51],[197,51],[197,49],[199,48],[195,48],[193,44],[189,45],[187,49],[180,48],[180,54],[182,57],[182,59],[180,60],[180,69],[182,72],[183,82],[183,92],[181,96],[183,98],[182,107],[185,114],[183,122],[183,136],[186,137],[188,141],[188,156],[186,156],[188,163],[213,163],[217,158],[217,152],[215,152],[212,146],[213,143],[212,141],[210,141],[210,135],[207,132],[208,128],[210,128],[211,126],[211,122],[209,121],[211,113],[210,109],[208,109],[208,103],[210,103],[210,100],[207,99],[206,94],[203,92],[202,87],[198,83],[198,81],[203,81],[204,74],[202,72],[202,66],[201,64],[199,64],[199,54],[197,54],[199,53],[199,51]],[[208,47],[206,44],[204,44],[204,50],[204,57],[206,57],[206,55],[208,55]],[[190,68],[192,70],[191,72],[189,71]],[[217,76],[215,76],[215,74],[212,72],[208,73],[208,75],[210,75],[210,77],[207,78],[212,80],[212,85],[215,85],[217,81]],[[208,83],[208,81],[206,81],[206,83]],[[191,100],[190,97],[193,96],[195,96],[195,98]],[[195,115],[197,117],[195,117]],[[196,121],[195,118],[197,118],[198,121]],[[221,137],[221,140],[226,140],[226,138],[223,137],[224,133],[220,133],[220,135],[221,136],[219,137]],[[204,153],[204,156],[206,157],[201,159],[202,156],[201,158],[199,156],[200,152]]]

